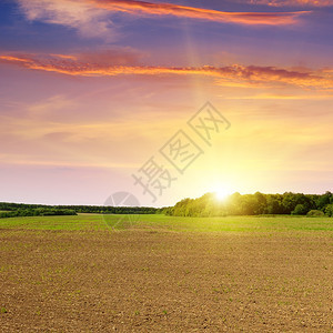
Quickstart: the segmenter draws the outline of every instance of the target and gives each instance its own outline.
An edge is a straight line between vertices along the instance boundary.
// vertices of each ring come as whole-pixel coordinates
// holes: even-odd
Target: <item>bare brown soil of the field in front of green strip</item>
[[[324,233],[0,230],[1,332],[333,332]]]

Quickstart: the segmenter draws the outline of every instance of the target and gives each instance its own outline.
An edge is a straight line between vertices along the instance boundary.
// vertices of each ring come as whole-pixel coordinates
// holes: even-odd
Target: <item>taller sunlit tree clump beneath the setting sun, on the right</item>
[[[333,194],[240,194],[234,193],[219,201],[214,193],[198,199],[184,199],[174,206],[165,208],[164,214],[173,216],[226,216],[292,214],[309,216],[333,216]]]

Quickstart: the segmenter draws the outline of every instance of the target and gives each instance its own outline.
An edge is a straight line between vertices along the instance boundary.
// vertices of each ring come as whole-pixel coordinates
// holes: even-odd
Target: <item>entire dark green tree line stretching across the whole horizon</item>
[[[0,218],[94,214],[159,214],[172,216],[228,216],[228,215],[309,215],[333,216],[333,194],[234,193],[219,201],[214,193],[198,199],[184,199],[174,206],[157,209],[148,206],[104,205],[43,205],[0,202]]]

